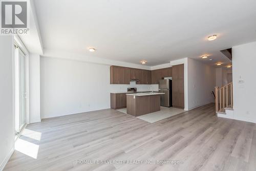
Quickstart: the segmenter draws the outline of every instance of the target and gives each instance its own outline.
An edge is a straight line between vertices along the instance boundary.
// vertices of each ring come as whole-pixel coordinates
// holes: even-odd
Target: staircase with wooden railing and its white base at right
[[[218,117],[233,119],[233,82],[215,87],[215,109]]]

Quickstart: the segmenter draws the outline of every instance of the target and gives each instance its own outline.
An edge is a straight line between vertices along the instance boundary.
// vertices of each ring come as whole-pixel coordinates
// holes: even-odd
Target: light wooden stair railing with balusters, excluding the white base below
[[[233,108],[233,82],[221,88],[215,87],[216,112],[225,112],[225,108]]]

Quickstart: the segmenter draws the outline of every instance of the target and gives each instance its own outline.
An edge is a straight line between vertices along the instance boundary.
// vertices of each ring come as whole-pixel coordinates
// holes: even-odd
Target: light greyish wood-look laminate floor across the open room
[[[4,170],[256,170],[256,125],[217,118],[213,104],[155,123],[115,110],[43,119],[27,126],[17,147]]]

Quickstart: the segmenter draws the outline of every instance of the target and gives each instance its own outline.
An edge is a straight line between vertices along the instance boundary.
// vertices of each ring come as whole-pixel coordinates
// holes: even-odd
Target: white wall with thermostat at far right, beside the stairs
[[[232,47],[234,118],[256,123],[256,42]],[[244,80],[244,83],[238,83]]]

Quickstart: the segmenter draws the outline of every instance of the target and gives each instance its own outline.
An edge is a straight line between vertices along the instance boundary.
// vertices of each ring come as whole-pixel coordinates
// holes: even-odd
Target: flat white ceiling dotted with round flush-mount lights
[[[255,0],[35,0],[45,49],[156,66],[256,41]],[[218,38],[208,41],[207,37]],[[91,53],[87,48],[95,47]],[[209,54],[212,61],[201,59]]]

